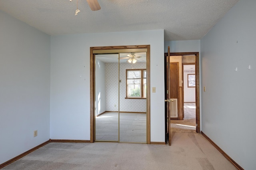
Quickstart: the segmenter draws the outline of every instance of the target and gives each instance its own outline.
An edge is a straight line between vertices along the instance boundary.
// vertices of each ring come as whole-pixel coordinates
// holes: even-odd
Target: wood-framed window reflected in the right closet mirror
[[[146,69],[126,70],[126,98],[146,98]]]

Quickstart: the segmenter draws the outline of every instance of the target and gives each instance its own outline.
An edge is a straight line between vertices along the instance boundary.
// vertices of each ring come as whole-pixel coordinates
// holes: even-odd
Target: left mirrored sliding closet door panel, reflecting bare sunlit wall
[[[95,55],[95,140],[118,141],[118,72],[118,54]]]

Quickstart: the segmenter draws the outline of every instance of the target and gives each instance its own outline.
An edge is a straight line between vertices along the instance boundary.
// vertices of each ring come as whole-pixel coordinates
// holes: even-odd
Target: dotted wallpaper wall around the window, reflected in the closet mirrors
[[[146,63],[120,63],[120,112],[146,112],[146,99],[125,99],[126,69],[146,68]],[[118,111],[118,63],[105,63],[106,111]]]

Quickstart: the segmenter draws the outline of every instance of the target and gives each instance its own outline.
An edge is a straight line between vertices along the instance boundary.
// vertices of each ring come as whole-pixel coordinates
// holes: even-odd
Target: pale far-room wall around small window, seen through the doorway
[[[184,70],[184,102],[196,102],[196,88],[188,88],[188,74],[195,74],[195,70]]]

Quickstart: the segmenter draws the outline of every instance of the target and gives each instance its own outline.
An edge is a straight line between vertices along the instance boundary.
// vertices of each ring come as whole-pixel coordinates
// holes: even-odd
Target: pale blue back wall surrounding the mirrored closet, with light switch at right
[[[164,30],[52,36],[50,138],[90,140],[90,47],[148,44],[151,141],[164,142]]]

